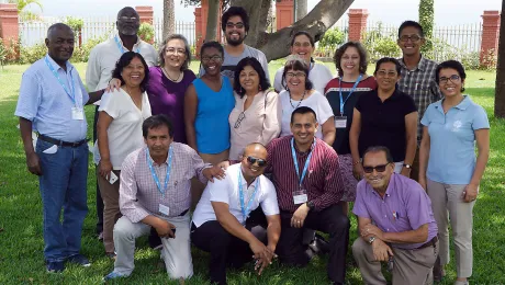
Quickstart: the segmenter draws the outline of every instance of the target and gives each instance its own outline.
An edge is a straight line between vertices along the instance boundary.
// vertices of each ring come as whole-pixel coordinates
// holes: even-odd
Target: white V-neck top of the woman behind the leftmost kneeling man
[[[105,93],[99,112],[106,112],[113,117],[106,129],[109,139],[109,152],[114,170],[121,170],[121,164],[127,155],[144,146],[142,124],[150,117],[150,104],[147,93],[142,94],[142,111],[133,102],[132,98],[123,90]],[[98,140],[94,144],[94,163],[100,162]]]

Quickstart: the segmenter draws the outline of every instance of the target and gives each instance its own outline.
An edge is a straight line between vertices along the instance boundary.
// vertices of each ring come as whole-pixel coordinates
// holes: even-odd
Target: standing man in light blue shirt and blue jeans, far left
[[[88,94],[76,68],[68,62],[74,38],[74,32],[65,24],[48,29],[45,39],[48,53],[23,73],[15,110],[29,171],[38,175],[48,272],[61,272],[65,261],[90,265],[79,253],[88,212],[83,105],[100,100],[103,90]],[[35,149],[32,130],[40,134]]]

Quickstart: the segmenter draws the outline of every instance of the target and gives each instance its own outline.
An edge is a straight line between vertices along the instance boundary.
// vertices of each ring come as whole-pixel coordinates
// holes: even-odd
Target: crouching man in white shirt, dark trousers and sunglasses
[[[276,189],[262,175],[266,166],[265,146],[249,144],[242,162],[228,167],[224,180],[209,183],[197,205],[191,241],[211,253],[211,283],[226,284],[226,264],[239,267],[254,256],[261,274],[274,256],[281,224]],[[265,228],[267,246],[260,240]]]

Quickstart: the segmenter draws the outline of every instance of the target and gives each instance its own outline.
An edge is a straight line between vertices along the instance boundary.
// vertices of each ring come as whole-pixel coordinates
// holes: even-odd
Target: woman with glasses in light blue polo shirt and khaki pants
[[[440,239],[434,277],[449,263],[448,220],[454,237],[456,285],[472,275],[472,219],[479,184],[490,157],[490,122],[483,107],[463,94],[467,75],[456,60],[438,65],[435,79],[444,99],[430,104],[420,123],[419,183],[431,200]],[[475,159],[475,141],[479,155]]]

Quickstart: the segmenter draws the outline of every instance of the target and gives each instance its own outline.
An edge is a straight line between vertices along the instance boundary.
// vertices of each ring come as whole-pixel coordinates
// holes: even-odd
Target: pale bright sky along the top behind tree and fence
[[[251,0],[252,1],[252,0]],[[2,0],[0,0],[2,2]],[[40,0],[45,16],[110,16],[125,5],[152,5],[155,16],[162,16],[162,0]],[[176,21],[194,21],[194,7],[184,8],[176,2]],[[318,0],[308,0],[308,10]],[[104,4],[106,3],[106,4]],[[417,20],[419,0],[355,0],[351,9],[367,9],[369,20],[399,25],[405,20]],[[386,8],[386,9],[384,9]],[[501,10],[501,0],[435,0],[435,23],[438,26],[482,22],[484,10]],[[37,7],[33,11],[40,11]],[[343,18],[347,19],[347,14]]]

